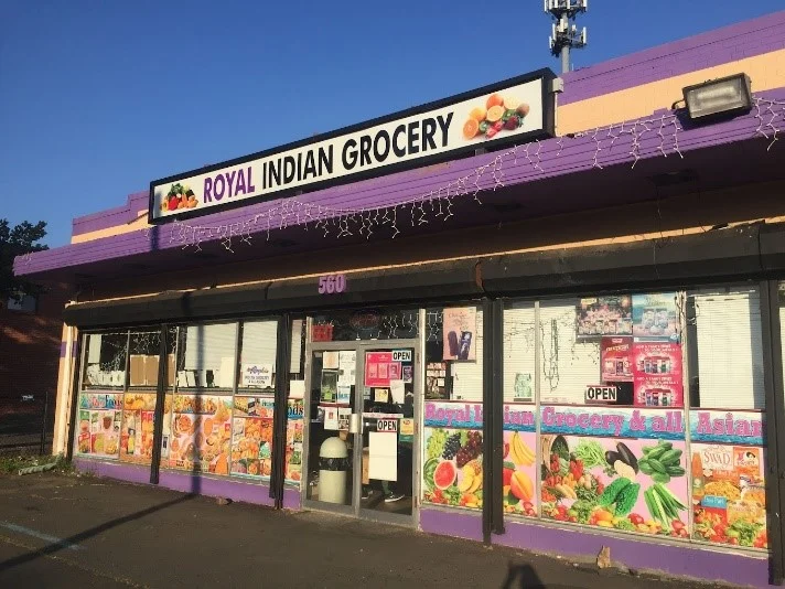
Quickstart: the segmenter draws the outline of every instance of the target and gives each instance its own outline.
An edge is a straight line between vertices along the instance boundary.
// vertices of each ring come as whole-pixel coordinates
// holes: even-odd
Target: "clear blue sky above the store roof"
[[[576,67],[783,8],[591,0]],[[49,223],[150,180],[542,66],[540,0],[0,1],[0,217]]]

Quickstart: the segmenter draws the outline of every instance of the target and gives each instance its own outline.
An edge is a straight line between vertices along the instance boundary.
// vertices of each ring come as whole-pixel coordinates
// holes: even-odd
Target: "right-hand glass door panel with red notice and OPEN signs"
[[[359,350],[355,484],[364,517],[410,523],[415,512],[416,343],[365,344]]]

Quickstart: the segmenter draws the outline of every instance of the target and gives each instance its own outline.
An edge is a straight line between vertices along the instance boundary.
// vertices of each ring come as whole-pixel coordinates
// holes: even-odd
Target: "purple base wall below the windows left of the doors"
[[[138,464],[123,464],[85,460],[76,458],[74,464],[82,472],[89,472],[95,476],[106,476],[136,484],[150,484],[150,468]],[[186,472],[161,470],[159,486],[195,493],[211,497],[227,497],[232,501],[252,503],[256,505],[272,506],[270,488],[265,484],[237,479],[217,479],[212,476],[196,476]],[[300,491],[286,488],[283,490],[283,507],[287,510],[300,508]]]

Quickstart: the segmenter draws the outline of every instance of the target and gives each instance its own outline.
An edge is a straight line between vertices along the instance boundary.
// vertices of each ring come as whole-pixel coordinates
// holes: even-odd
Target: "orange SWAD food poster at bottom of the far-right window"
[[[692,537],[766,549],[765,453],[754,446],[692,443]]]

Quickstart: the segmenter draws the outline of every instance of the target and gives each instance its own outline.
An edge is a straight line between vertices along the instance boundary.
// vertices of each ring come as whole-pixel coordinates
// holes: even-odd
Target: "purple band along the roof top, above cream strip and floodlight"
[[[569,105],[782,49],[785,49],[785,11],[564,74],[564,93],[559,104]]]

